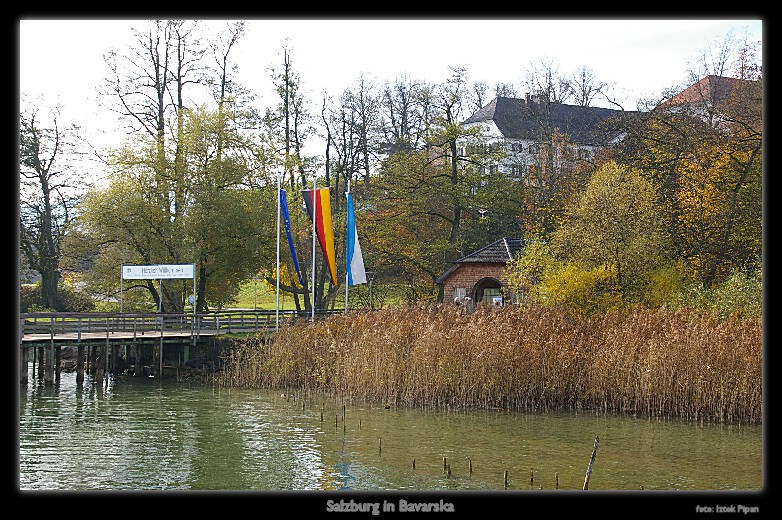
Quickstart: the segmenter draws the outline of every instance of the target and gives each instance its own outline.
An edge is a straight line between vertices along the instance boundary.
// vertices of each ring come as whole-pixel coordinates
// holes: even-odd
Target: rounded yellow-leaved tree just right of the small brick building
[[[638,171],[608,162],[567,207],[560,227],[530,240],[509,277],[534,301],[590,313],[643,301],[652,273],[670,261],[661,222],[655,187]]]

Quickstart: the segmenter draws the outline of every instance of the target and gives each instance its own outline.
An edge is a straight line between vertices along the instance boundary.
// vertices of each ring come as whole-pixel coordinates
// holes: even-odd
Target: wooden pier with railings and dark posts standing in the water
[[[59,374],[64,347],[77,349],[77,380],[84,378],[85,364],[89,369],[91,363],[96,379],[101,379],[110,372],[128,369],[131,359],[132,373],[136,375],[162,377],[166,368],[179,374],[187,366],[190,347],[199,341],[228,334],[274,332],[278,325],[297,319],[306,317],[296,311],[278,314],[276,310],[203,314],[23,313],[19,317],[20,383],[27,384],[31,361],[33,371],[38,366],[44,382],[53,383]]]

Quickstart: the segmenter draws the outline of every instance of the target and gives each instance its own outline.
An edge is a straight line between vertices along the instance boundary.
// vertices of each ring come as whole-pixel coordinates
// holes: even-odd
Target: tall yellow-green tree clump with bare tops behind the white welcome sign
[[[260,223],[273,214],[274,197],[251,191],[268,154],[258,153],[247,130],[257,117],[230,64],[242,31],[228,25],[225,39],[213,40],[212,67],[195,26],[176,21],[150,23],[129,54],[109,56],[112,95],[136,131],[111,153],[113,175],[85,197],[74,230],[90,238],[85,277],[104,297],[119,292],[111,265],[196,263],[196,308],[219,307],[268,256],[261,244],[269,232]],[[196,86],[203,88],[188,96]],[[212,103],[196,103],[210,94]],[[103,280],[114,280],[113,289]],[[133,281],[125,290],[143,288],[165,311],[184,308],[192,285],[154,282]]]

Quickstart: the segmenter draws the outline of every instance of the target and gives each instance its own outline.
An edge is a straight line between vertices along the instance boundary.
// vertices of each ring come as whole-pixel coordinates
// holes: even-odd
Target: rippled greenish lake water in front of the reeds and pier
[[[762,427],[385,409],[89,377],[19,396],[22,490],[761,490]]]

